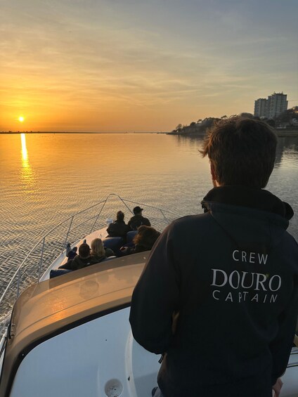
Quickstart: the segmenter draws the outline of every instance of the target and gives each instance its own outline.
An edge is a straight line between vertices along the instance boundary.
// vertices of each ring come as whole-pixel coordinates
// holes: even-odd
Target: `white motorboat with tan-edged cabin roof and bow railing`
[[[106,209],[110,200],[112,210]],[[129,325],[131,294],[149,252],[49,278],[66,260],[68,241],[73,246],[94,237],[105,239],[105,221],[100,219],[110,219],[121,209],[119,203],[127,211],[139,204],[113,194],[61,222],[32,248],[8,283],[0,299],[1,313],[2,307],[9,309],[6,298],[18,299],[8,323],[3,320],[0,397],[151,396],[160,357],[138,345]],[[141,207],[146,214],[152,211],[150,220],[160,230],[177,216]],[[61,228],[66,232],[63,238]],[[52,256],[56,259],[48,266]],[[34,283],[28,277],[32,258],[38,265]],[[26,288],[28,282],[32,285]],[[298,396],[297,374],[298,348],[293,347],[280,396]]]

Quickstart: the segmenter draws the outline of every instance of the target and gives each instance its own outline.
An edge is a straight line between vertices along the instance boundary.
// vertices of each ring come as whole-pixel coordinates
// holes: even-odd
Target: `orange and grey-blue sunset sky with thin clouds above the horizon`
[[[298,104],[297,4],[181,4],[2,4],[0,131],[170,131],[273,91]]]

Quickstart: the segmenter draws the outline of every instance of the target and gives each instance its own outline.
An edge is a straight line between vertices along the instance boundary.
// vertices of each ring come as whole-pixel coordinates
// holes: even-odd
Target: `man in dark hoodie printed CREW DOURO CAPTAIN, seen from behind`
[[[131,301],[134,338],[164,354],[155,396],[278,396],[298,311],[289,204],[264,190],[277,138],[233,117],[209,131],[214,188],[204,214],[177,219],[153,247]]]

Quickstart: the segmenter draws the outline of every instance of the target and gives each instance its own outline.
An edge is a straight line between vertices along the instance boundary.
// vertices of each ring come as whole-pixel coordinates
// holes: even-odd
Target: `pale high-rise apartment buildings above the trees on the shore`
[[[254,101],[254,116],[273,119],[287,110],[287,94],[273,93],[268,99],[259,98]]]

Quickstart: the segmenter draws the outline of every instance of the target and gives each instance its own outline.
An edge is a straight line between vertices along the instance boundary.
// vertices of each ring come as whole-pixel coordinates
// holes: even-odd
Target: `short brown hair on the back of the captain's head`
[[[209,129],[202,146],[221,185],[265,188],[276,160],[277,138],[268,124],[231,117]]]

